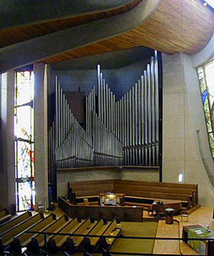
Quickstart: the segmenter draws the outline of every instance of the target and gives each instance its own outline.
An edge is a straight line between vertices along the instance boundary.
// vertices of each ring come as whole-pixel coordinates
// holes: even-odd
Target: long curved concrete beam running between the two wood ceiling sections
[[[136,28],[161,0],[144,0],[134,9],[102,20],[64,29],[0,49],[0,73],[56,55],[69,49],[110,38]]]

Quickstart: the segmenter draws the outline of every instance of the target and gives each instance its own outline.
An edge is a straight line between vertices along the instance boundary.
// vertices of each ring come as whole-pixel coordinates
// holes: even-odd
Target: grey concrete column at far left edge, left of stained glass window
[[[15,204],[15,160],[13,135],[14,72],[0,75],[0,208]]]

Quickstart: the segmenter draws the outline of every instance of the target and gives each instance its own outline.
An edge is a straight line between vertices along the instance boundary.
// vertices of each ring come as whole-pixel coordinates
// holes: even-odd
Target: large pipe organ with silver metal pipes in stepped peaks
[[[97,86],[86,97],[85,130],[56,78],[56,115],[48,134],[50,173],[54,168],[158,166],[158,94],[157,51],[139,80],[119,100],[98,65]]]

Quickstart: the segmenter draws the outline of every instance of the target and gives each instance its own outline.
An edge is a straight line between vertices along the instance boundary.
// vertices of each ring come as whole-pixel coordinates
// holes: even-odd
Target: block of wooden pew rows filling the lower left
[[[45,217],[43,213],[37,213],[32,216],[28,211],[0,225],[0,254],[14,252],[31,255],[40,254],[43,250],[54,254],[62,250],[68,253],[76,250],[109,250],[121,230],[122,224],[118,218],[110,222],[104,218],[94,220],[90,217],[69,220],[66,215],[57,219],[55,214]]]

